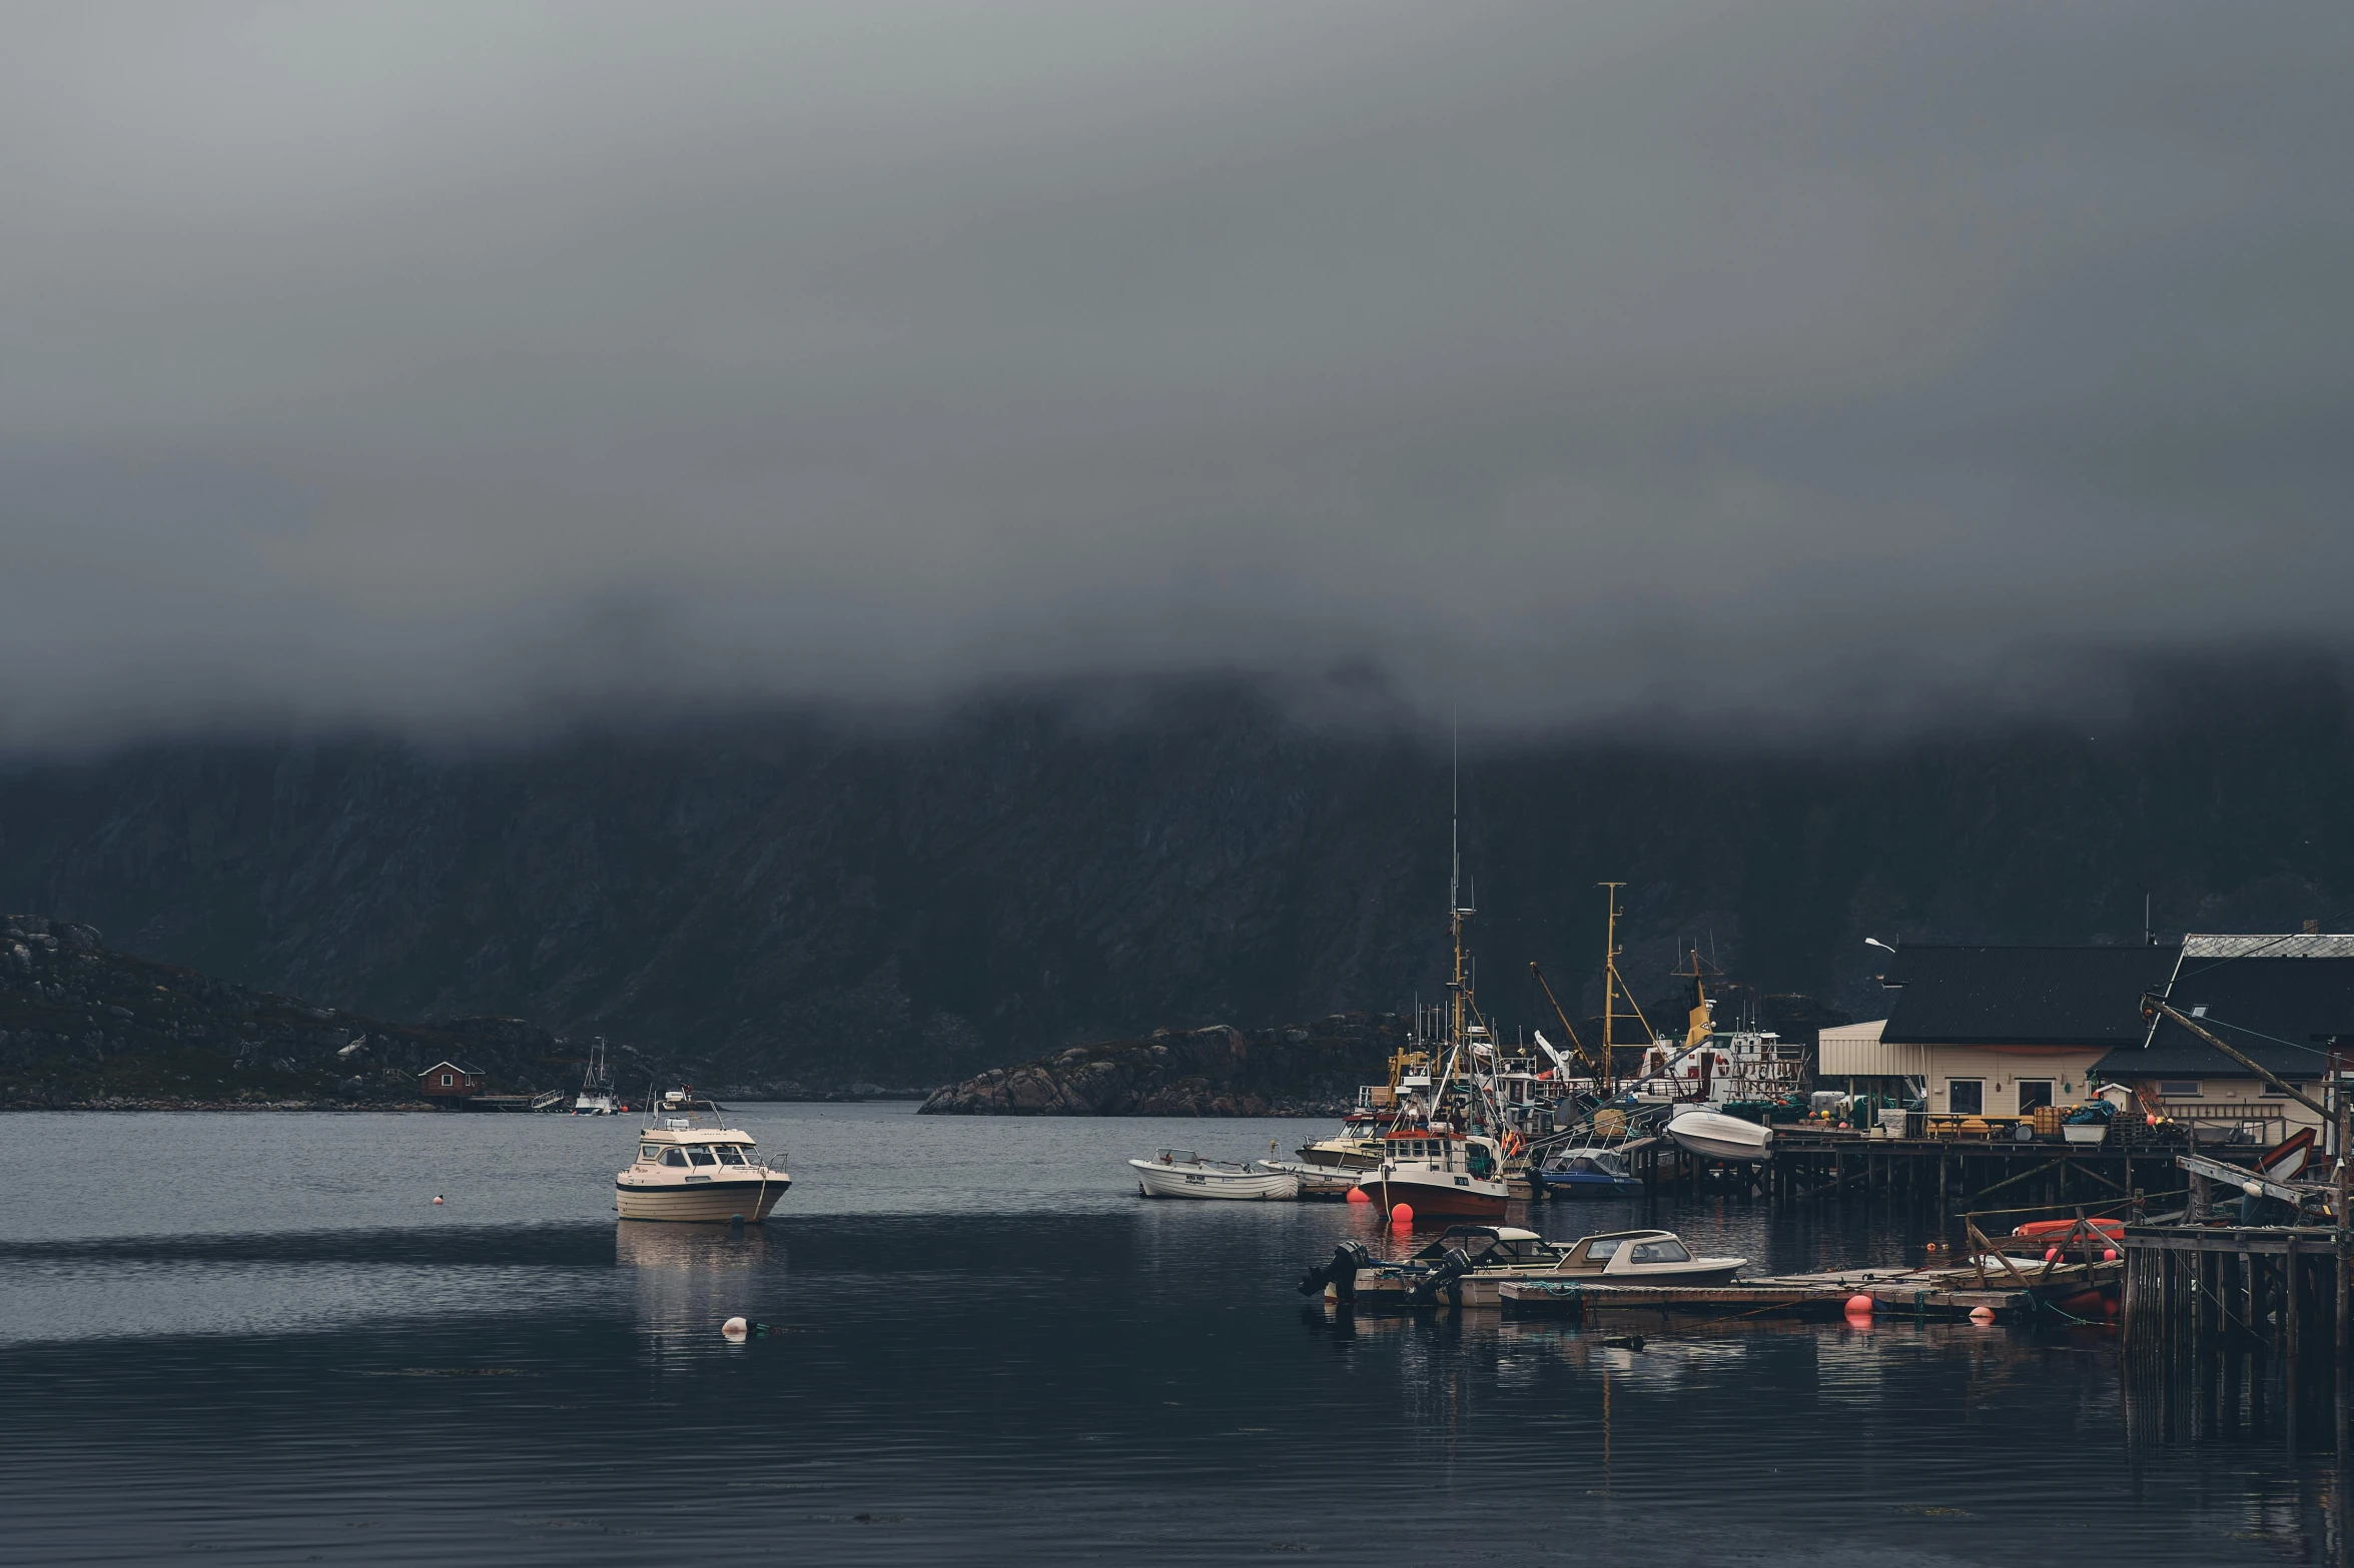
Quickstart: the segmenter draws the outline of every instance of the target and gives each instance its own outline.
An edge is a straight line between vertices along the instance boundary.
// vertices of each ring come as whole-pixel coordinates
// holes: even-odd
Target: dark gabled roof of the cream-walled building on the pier
[[[1888,966],[1902,985],[1881,1039],[1895,1046],[2126,1046],[2142,992],[2175,947],[1921,947]]]

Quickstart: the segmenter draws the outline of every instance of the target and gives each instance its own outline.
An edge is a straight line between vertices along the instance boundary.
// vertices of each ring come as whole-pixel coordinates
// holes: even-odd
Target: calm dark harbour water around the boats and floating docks
[[[1346,1331],[1292,1279],[1365,1211],[1149,1204],[1121,1164],[1309,1124],[737,1121],[796,1175],[744,1237],[617,1225],[626,1119],[0,1117],[0,1556],[2342,1561],[2279,1368],[2194,1420],[2104,1331]],[[1864,1206],[1532,1211],[1636,1220],[1777,1269],[1916,1244]]]

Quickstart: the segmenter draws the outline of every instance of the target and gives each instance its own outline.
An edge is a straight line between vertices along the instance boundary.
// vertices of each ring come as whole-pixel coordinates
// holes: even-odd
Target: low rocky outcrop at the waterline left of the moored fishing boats
[[[1156,1030],[946,1084],[927,1117],[1337,1117],[1405,1044],[1396,1013],[1278,1030]]]

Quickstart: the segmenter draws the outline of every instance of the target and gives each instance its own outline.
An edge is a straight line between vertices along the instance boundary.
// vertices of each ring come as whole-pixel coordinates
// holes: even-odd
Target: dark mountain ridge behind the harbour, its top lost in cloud
[[[2295,929],[2354,898],[2330,668],[2168,672],[2097,726],[1902,743],[1483,743],[1481,1001],[1547,1025],[1688,945],[1878,1016],[1883,940]],[[148,745],[0,776],[0,907],[384,1018],[518,1016],[734,1081],[939,1084],[1153,1027],[1438,997],[1448,759],[1236,686],[572,733]]]

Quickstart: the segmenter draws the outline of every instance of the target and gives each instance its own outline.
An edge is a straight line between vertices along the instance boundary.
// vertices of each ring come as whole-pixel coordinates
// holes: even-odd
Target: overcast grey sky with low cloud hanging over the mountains
[[[2342,2],[5,12],[0,745],[2347,625]]]

